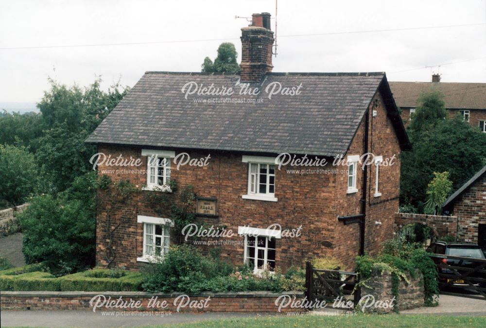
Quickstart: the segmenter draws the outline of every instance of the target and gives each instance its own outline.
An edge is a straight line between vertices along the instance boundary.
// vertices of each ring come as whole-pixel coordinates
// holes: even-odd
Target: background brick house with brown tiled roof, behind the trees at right
[[[460,113],[470,125],[486,133],[486,83],[444,83],[434,74],[432,82],[391,82],[393,97],[404,122],[411,120],[422,93],[439,91],[449,115]]]

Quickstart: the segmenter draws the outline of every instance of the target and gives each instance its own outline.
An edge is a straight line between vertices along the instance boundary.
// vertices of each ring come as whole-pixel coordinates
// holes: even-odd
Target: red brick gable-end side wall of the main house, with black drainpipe
[[[366,196],[366,224],[365,224],[365,252],[377,254],[381,243],[393,236],[394,213],[399,207],[399,179],[400,179],[400,148],[398,138],[394,133],[391,122],[386,116],[386,109],[380,94],[375,95],[369,111],[368,153],[382,156],[383,161],[396,155],[395,164],[380,167],[379,191],[380,197],[374,197],[375,174],[374,165],[366,166],[368,170]],[[373,117],[372,111],[377,115]],[[347,155],[364,153],[364,119],[358,129]],[[360,199],[363,197],[363,170],[357,173],[357,193],[347,194],[347,172],[341,172],[336,184],[336,216],[360,213]],[[381,222],[376,225],[375,221]],[[335,255],[345,261],[348,267],[353,267],[354,258],[359,252],[359,224],[344,225],[335,220],[336,242]],[[341,257],[342,255],[342,257]]]

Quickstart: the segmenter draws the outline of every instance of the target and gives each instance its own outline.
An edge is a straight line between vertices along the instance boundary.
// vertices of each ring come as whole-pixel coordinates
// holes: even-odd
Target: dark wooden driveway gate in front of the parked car
[[[441,294],[486,299],[486,259],[442,254],[430,254],[430,257],[437,266]],[[469,294],[449,292],[449,288]]]

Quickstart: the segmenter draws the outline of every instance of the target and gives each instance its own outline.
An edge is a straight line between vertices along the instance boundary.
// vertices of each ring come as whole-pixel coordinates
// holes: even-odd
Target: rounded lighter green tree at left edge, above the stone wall
[[[39,186],[39,170],[34,155],[23,146],[0,145],[1,207],[24,203]]]

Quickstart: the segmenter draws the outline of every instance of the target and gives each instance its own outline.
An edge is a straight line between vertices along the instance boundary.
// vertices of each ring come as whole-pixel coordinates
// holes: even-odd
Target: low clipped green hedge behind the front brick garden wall
[[[55,277],[48,272],[39,271],[43,266],[30,264],[21,268],[0,271],[1,291],[85,291],[85,292],[129,292],[140,291],[142,274],[127,272],[119,278],[93,277],[104,276],[106,269],[94,269],[76,274]]]

